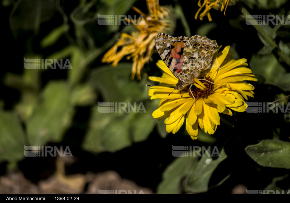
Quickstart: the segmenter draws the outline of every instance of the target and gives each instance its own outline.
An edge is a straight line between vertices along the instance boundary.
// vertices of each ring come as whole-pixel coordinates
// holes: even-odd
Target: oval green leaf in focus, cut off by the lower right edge
[[[245,151],[259,165],[290,168],[290,142],[262,140],[259,144],[247,146]]]

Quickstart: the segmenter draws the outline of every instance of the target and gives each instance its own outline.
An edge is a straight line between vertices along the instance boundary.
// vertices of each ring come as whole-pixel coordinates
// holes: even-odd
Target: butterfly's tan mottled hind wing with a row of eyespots
[[[215,52],[218,51],[216,41],[199,35],[192,36],[183,49],[183,73],[190,78],[198,78],[211,65]],[[189,81],[192,82],[192,81]]]

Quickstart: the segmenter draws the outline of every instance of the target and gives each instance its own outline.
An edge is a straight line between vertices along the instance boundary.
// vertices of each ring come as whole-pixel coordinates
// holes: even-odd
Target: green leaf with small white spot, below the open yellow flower
[[[212,152],[214,152],[214,149],[212,149]],[[186,179],[185,190],[194,193],[208,191],[208,183],[212,173],[218,167],[219,163],[221,163],[221,161],[226,158],[227,155],[224,150],[220,152],[220,157],[217,159],[213,159],[211,156],[208,156],[208,154],[205,153],[198,164],[196,164],[197,166],[193,168],[193,170],[188,175]],[[224,178],[222,181],[224,181],[226,178]],[[222,181],[219,183],[219,185],[222,183]]]

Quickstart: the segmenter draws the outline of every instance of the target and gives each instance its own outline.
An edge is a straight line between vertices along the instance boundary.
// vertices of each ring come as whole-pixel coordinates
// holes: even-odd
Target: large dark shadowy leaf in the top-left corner
[[[38,34],[40,24],[50,20],[56,11],[56,5],[50,0],[19,0],[14,4],[10,15],[13,34],[33,30]]]

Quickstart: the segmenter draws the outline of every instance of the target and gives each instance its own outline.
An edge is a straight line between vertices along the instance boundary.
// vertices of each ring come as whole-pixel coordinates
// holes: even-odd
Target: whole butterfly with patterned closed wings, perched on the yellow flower
[[[193,78],[206,80],[200,77],[210,68],[212,57],[218,51],[215,40],[200,35],[188,38],[161,33],[155,38],[155,46],[169,70],[179,79],[174,89],[182,90],[190,85],[190,92],[194,83]],[[193,94],[192,96],[194,98]]]

